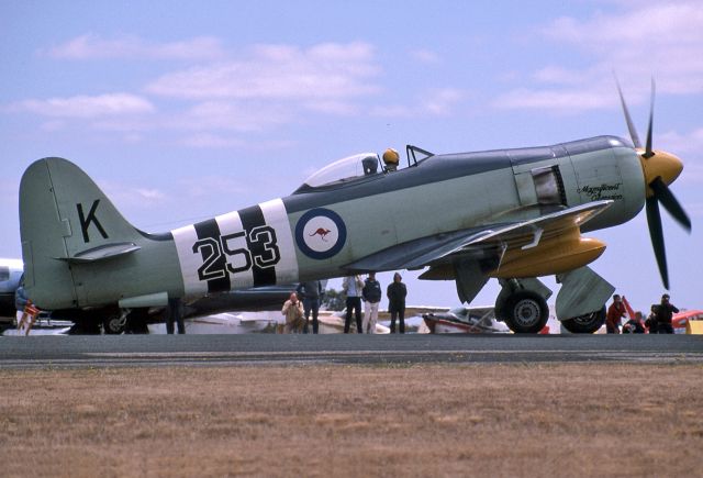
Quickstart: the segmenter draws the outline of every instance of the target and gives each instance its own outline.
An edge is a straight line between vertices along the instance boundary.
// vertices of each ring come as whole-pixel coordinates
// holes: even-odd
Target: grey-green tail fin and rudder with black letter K
[[[32,164],[20,184],[25,289],[43,309],[77,307],[72,263],[129,254],[141,234],[80,168],[62,158]]]

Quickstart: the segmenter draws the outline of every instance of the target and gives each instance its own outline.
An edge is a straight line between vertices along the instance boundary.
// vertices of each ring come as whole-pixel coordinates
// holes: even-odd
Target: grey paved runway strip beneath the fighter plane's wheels
[[[286,364],[701,364],[701,335],[0,337],[0,369]]]

